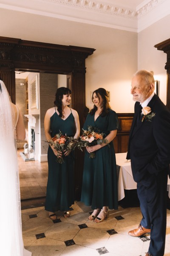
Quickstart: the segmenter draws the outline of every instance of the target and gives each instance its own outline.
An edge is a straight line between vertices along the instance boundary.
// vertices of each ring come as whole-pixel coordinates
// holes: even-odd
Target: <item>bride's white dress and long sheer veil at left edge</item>
[[[16,120],[0,81],[0,255],[31,256],[23,245],[20,184],[15,147]]]

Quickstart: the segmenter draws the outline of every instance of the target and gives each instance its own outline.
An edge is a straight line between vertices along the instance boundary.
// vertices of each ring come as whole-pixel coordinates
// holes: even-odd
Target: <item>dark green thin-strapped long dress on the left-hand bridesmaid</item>
[[[51,137],[58,134],[75,134],[75,122],[72,112],[63,120],[55,112],[51,116]],[[45,210],[49,212],[67,211],[74,204],[74,152],[63,157],[64,163],[56,162],[56,155],[48,147],[48,183],[45,200]]]

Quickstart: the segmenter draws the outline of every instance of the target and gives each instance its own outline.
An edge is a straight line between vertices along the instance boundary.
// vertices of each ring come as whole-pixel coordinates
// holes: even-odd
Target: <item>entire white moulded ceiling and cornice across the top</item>
[[[0,8],[140,32],[170,14],[170,0],[0,0]]]

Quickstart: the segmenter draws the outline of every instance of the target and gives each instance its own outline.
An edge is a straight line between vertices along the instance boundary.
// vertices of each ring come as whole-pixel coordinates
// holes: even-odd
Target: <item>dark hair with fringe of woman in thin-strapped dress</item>
[[[64,115],[62,114],[62,98],[63,98],[63,95],[66,95],[66,94],[71,94],[71,90],[68,89],[67,87],[60,87],[57,89],[57,92],[56,92],[56,98],[54,100],[54,107],[57,107],[57,110],[59,112],[59,116],[60,117],[64,117]]]

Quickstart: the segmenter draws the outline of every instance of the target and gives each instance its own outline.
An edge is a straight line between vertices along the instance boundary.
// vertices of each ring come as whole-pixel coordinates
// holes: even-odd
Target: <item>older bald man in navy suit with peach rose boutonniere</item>
[[[131,160],[133,179],[137,182],[143,218],[129,235],[139,237],[150,233],[146,256],[163,256],[170,173],[170,111],[154,93],[155,81],[150,72],[136,72],[131,85],[136,103],[127,159]]]

